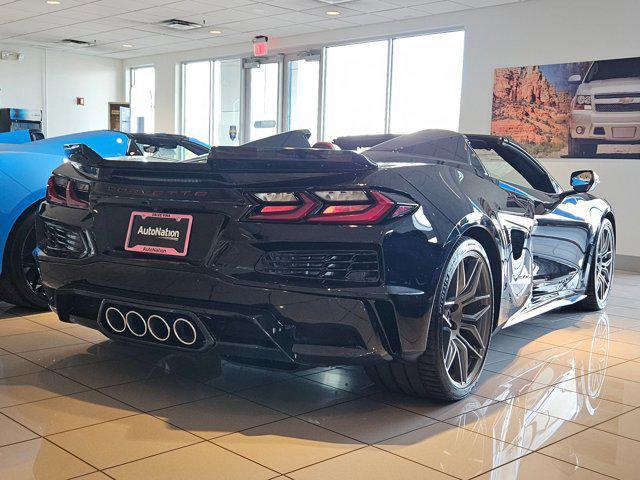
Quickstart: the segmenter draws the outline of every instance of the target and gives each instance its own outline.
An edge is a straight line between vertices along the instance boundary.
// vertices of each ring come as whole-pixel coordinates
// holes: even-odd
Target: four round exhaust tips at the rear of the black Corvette
[[[129,310],[124,314],[119,308],[109,307],[105,310],[105,321],[109,329],[114,333],[128,331],[137,338],[149,333],[156,341],[164,343],[171,339],[173,334],[176,341],[190,347],[198,340],[198,330],[189,319],[180,317],[174,320],[173,326],[163,317],[157,314],[145,319],[135,310]]]

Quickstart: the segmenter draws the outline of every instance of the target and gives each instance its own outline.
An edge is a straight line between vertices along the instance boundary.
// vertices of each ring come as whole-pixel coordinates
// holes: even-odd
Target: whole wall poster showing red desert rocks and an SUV
[[[491,133],[539,157],[640,158],[640,57],[496,69]]]

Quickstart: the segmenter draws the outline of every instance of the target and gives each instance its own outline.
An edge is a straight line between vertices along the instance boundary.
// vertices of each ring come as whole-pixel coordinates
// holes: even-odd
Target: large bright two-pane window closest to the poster
[[[457,130],[464,31],[327,47],[324,140]]]

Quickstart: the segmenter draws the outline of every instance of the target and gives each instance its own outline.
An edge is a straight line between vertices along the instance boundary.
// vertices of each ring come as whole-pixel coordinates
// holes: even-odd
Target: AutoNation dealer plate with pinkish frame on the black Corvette
[[[132,212],[124,249],[129,252],[184,257],[189,249],[192,215]]]

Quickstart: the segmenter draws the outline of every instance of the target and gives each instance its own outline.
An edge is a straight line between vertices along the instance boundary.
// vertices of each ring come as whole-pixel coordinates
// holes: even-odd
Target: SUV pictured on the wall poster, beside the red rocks
[[[571,102],[570,157],[594,157],[598,145],[640,144],[640,58],[595,61],[584,78],[572,75],[569,82],[579,84]]]

